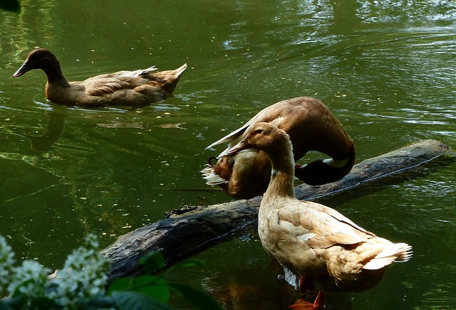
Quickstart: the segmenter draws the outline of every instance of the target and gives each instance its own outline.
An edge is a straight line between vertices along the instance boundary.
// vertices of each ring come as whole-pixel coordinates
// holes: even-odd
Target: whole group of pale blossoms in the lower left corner
[[[98,241],[93,234],[86,237],[83,246],[68,255],[52,283],[48,279],[50,269],[38,262],[24,260],[19,267],[13,267],[14,263],[14,252],[0,236],[0,289],[8,284],[8,292],[13,297],[47,296],[71,309],[78,300],[105,294],[110,262],[98,252]],[[47,291],[50,286],[54,289]]]

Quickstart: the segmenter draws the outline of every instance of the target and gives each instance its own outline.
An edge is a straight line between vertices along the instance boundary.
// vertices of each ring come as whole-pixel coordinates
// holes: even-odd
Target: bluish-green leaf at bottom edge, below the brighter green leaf
[[[153,297],[135,292],[113,292],[113,299],[120,310],[172,310]]]

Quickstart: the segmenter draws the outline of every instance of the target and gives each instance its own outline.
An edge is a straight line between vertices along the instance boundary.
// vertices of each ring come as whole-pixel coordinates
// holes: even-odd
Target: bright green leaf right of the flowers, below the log
[[[167,302],[170,299],[170,288],[166,280],[152,275],[115,279],[110,284],[108,295],[118,291],[138,292],[152,296],[162,302]]]

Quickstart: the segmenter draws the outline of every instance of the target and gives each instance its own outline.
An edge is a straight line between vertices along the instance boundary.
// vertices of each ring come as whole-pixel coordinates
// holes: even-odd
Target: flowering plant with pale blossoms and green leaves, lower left
[[[165,260],[158,251],[140,260],[150,274],[116,279],[106,292],[109,262],[97,248],[95,235],[89,234],[85,244],[68,255],[51,282],[47,277],[50,270],[36,261],[24,260],[14,267],[14,252],[0,236],[0,290],[7,286],[11,295],[0,299],[0,309],[170,310],[171,292],[183,296],[195,309],[221,309],[211,296],[166,279],[177,269],[201,267],[201,261],[190,259],[165,269]]]

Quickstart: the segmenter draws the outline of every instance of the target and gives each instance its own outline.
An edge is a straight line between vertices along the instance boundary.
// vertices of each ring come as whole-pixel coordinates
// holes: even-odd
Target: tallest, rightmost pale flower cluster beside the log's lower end
[[[57,272],[56,291],[51,297],[61,306],[72,306],[81,299],[105,294],[110,262],[98,252],[98,241],[93,234],[85,245],[68,255],[62,270]]]

